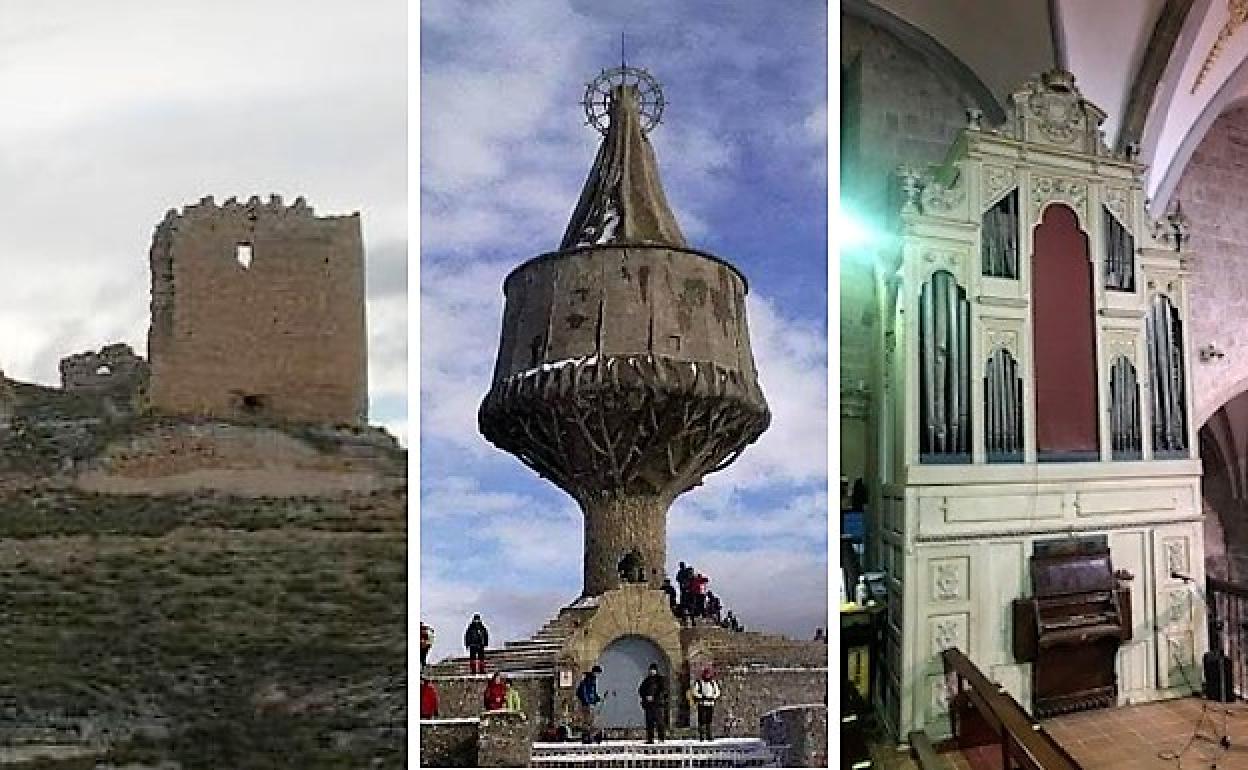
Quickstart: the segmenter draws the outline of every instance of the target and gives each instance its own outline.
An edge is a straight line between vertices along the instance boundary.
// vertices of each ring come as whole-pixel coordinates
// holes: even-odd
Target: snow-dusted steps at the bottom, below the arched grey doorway
[[[780,768],[786,746],[758,738],[713,741],[607,740],[600,744],[535,743],[530,768]]]

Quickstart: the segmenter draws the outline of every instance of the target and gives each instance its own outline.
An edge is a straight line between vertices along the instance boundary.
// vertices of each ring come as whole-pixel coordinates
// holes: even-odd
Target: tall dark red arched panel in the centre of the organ
[[[1035,232],[1031,261],[1036,353],[1036,448],[1097,451],[1096,316],[1088,238],[1055,203]]]

